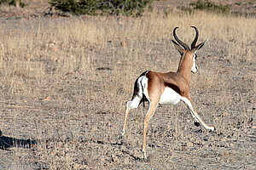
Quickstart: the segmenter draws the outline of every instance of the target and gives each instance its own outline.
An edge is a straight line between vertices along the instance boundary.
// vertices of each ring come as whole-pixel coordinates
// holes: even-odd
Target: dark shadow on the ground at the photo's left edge
[[[31,148],[36,144],[36,140],[31,139],[15,139],[8,136],[2,136],[0,130],[0,149],[8,150],[10,147],[22,147],[22,148]]]

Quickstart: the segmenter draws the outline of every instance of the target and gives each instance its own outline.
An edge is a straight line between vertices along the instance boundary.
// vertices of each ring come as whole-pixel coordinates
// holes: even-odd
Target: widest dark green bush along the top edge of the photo
[[[73,14],[140,16],[152,0],[51,0],[51,6]]]

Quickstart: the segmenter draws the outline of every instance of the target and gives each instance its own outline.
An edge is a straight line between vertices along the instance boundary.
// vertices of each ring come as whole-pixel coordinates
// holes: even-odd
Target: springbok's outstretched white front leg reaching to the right
[[[187,97],[187,98],[186,98],[186,97],[183,97],[182,100],[183,100],[183,102],[184,102],[186,105],[188,105],[189,110],[190,110],[190,113],[192,114],[192,116],[193,116],[195,122],[200,122],[201,125],[202,125],[203,127],[205,127],[207,130],[210,130],[210,131],[214,131],[214,130],[215,130],[215,127],[210,127],[210,126],[208,126],[205,122],[203,122],[203,121],[201,120],[201,117],[198,116],[197,112],[195,111],[195,108],[194,108],[193,105],[192,105],[191,99],[190,99],[189,97]]]

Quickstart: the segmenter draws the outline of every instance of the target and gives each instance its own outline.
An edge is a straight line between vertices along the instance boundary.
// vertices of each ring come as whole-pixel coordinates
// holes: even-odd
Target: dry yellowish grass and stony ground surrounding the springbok
[[[1,130],[40,142],[30,150],[1,150],[0,164],[38,162],[50,169],[255,166],[255,140],[250,139],[255,138],[254,18],[153,13],[122,18],[122,24],[115,17],[81,17],[1,25]],[[116,136],[137,76],[145,70],[177,70],[179,55],[171,43],[176,26],[184,42],[195,36],[189,26],[200,30],[199,42],[209,38],[199,52],[191,98],[203,120],[218,130],[199,133],[183,104],[160,107],[148,130],[151,161],[143,163],[137,158],[146,108],[129,116],[124,145],[115,145]]]

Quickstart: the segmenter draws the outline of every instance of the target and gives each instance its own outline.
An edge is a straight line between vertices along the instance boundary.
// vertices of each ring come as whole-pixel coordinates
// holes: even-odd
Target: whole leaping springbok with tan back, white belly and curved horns
[[[125,122],[124,127],[119,133],[119,139],[122,139],[125,134],[127,116],[131,109],[137,108],[142,102],[148,101],[148,112],[144,119],[143,128],[143,159],[147,161],[146,155],[146,133],[148,128],[148,122],[154,115],[158,105],[176,105],[179,101],[183,101],[188,105],[189,111],[195,121],[195,126],[201,125],[209,131],[213,131],[215,127],[208,126],[205,122],[201,120],[192,105],[191,99],[189,98],[189,81],[191,73],[195,73],[198,69],[196,65],[197,55],[196,52],[202,48],[206,42],[201,42],[199,45],[195,46],[198,40],[198,30],[195,26],[191,26],[195,29],[195,39],[191,43],[191,49],[189,46],[182,42],[176,35],[176,30],[173,30],[173,37],[177,42],[172,40],[174,47],[181,54],[177,72],[154,72],[145,71],[141,74],[135,84],[134,92],[131,101],[126,104],[125,110]],[[182,47],[181,47],[182,46]]]

